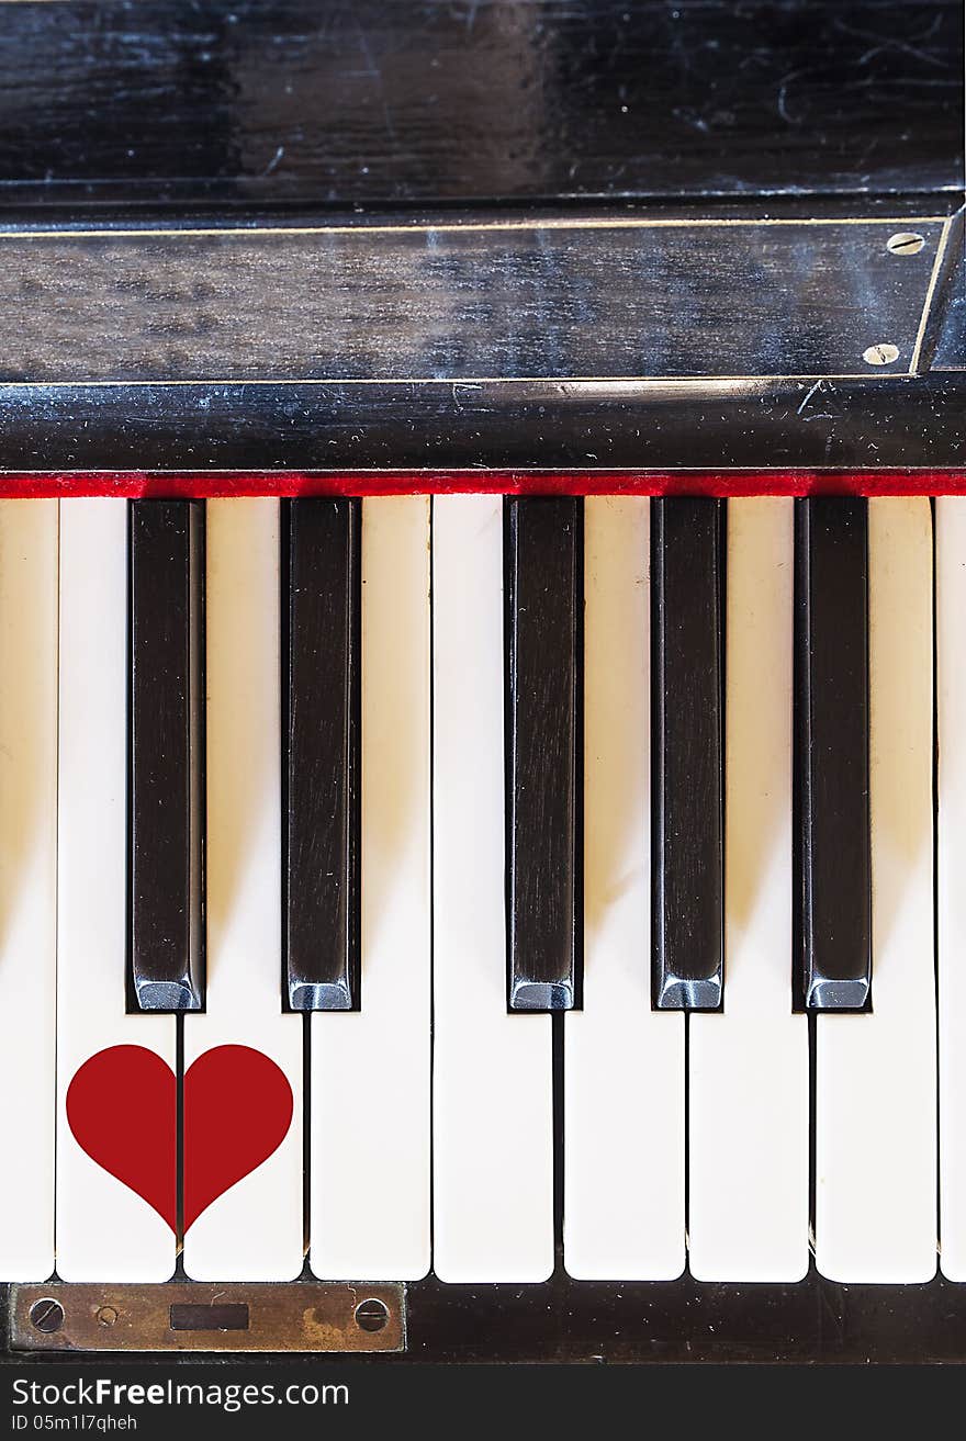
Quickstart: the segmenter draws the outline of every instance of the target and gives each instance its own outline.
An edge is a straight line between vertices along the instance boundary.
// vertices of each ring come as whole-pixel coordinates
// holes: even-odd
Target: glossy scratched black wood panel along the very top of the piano
[[[30,203],[962,187],[959,0],[0,6]]]

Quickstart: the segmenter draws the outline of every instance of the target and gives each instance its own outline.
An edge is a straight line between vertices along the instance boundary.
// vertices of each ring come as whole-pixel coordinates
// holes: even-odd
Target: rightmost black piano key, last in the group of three
[[[796,503],[796,989],[861,1010],[871,987],[868,504]]]

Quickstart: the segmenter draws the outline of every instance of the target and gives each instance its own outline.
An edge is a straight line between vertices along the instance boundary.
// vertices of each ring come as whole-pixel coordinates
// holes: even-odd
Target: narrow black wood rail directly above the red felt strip
[[[0,471],[907,465],[966,465],[963,372],[632,388],[0,386]]]

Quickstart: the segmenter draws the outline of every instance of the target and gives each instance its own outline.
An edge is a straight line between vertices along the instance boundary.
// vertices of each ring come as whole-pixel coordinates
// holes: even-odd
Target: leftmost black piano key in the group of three
[[[510,1010],[580,990],[582,520],[570,497],[505,503]]]

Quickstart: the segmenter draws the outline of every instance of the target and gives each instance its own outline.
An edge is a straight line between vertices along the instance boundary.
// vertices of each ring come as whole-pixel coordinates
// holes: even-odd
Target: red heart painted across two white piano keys
[[[177,1221],[177,1085],[144,1046],[108,1046],[76,1071],[68,1124],[92,1161]],[[215,1046],[185,1072],[185,1231],[275,1151],[291,1125],[291,1087],[251,1046]]]

